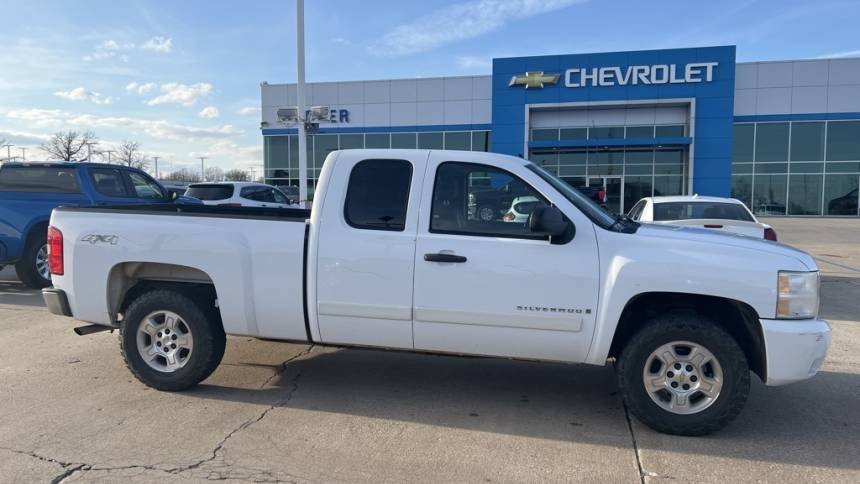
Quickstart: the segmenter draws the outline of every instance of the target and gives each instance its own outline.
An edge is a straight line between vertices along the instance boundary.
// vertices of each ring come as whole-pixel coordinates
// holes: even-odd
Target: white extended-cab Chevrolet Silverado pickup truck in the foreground
[[[496,215],[477,215],[479,192]],[[525,196],[540,203],[506,220]],[[48,245],[51,312],[92,323],[79,334],[119,329],[128,367],[159,390],[208,377],[225,334],[614,360],[634,415],[701,435],[740,412],[750,371],[767,385],[809,378],[830,343],[808,254],[639,224],[491,153],[333,152],[310,211],[58,208]]]

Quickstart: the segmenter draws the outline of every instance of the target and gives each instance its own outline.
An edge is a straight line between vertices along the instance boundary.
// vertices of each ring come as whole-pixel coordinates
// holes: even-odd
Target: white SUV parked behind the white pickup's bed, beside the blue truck
[[[205,205],[295,208],[280,190],[256,182],[194,183],[188,186],[185,195]]]

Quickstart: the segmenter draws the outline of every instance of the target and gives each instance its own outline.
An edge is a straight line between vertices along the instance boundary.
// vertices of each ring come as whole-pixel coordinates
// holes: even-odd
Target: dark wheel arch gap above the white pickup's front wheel
[[[609,348],[609,357],[617,357],[624,345],[651,318],[672,311],[686,311],[708,316],[741,347],[750,370],[767,380],[764,334],[755,309],[735,299],[680,292],[645,292],[632,297],[625,305]]]

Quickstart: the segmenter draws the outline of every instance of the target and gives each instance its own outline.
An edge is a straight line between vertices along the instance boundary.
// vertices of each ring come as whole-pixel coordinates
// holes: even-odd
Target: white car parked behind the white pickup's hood
[[[776,231],[755,218],[740,200],[721,197],[647,197],[627,213],[637,222],[683,225],[776,241]]]

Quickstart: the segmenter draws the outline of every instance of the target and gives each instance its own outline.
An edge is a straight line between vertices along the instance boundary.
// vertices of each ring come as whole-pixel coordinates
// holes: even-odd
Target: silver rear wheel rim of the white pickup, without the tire
[[[150,368],[173,373],[184,367],[194,349],[191,329],[178,314],[155,311],[137,328],[137,351]]]

